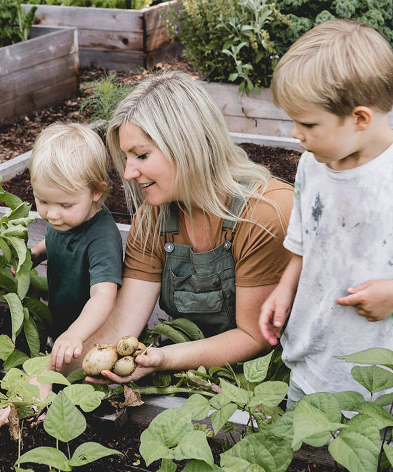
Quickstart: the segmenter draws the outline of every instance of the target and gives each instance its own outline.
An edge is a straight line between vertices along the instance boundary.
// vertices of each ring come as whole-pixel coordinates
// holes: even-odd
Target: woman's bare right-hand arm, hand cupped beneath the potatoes
[[[104,371],[104,375],[112,382],[128,383],[154,371],[196,369],[200,365],[209,368],[225,362],[235,364],[269,350],[270,344],[258,329],[258,318],[261,304],[275,287],[276,284],[236,287],[235,329],[206,339],[151,349],[136,358],[137,369],[129,377],[121,378],[110,371]]]

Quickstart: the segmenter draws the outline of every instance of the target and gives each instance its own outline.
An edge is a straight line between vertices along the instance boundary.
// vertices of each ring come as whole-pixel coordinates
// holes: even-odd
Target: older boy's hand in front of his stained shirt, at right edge
[[[393,313],[393,280],[369,280],[347,292],[350,295],[337,298],[337,303],[354,306],[367,321],[384,320]]]

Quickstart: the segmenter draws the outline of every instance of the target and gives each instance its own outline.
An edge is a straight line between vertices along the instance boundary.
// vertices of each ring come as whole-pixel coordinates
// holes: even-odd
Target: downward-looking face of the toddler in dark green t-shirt
[[[41,179],[33,183],[35,204],[41,218],[56,231],[68,231],[89,220],[100,209],[101,192],[90,190],[68,193]]]

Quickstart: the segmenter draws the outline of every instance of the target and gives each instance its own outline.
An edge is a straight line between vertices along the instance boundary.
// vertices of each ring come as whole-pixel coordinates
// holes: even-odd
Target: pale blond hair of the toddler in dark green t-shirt
[[[29,159],[31,183],[42,179],[50,186],[72,192],[109,190],[109,155],[102,139],[79,123],[54,123],[36,139]]]

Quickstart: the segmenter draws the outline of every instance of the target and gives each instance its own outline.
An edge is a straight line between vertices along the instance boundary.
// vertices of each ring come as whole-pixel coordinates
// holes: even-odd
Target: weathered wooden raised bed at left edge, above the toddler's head
[[[27,41],[0,48],[0,125],[75,95],[78,70],[75,28],[33,26]]]

